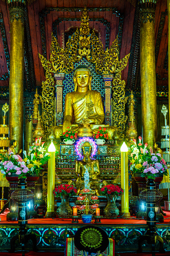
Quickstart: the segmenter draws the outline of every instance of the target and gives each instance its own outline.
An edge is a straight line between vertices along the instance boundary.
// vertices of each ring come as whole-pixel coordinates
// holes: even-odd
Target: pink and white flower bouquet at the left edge
[[[12,175],[15,173],[19,178],[26,178],[26,173],[29,172],[29,168],[26,166],[26,163],[19,155],[14,155],[13,152],[10,152],[8,155],[2,156],[2,161],[0,162],[0,171],[6,175]]]

